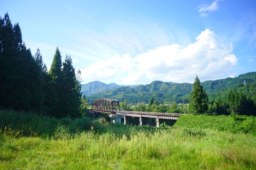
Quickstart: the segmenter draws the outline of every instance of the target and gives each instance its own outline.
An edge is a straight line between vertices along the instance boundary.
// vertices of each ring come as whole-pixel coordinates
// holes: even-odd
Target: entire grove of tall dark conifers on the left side
[[[48,72],[39,48],[33,56],[22,41],[18,23],[12,25],[8,13],[0,17],[0,107],[35,111],[57,118],[79,117],[87,111],[82,98],[81,72],[72,59],[57,47]]]

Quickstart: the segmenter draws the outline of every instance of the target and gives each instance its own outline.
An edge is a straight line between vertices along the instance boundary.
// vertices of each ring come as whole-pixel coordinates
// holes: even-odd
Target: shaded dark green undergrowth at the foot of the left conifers
[[[92,120],[82,116],[71,119],[71,117],[56,119],[30,112],[17,112],[0,110],[0,129],[12,129],[20,132],[20,135],[51,136],[56,133],[59,126],[65,125],[70,134],[78,131],[86,131],[91,128]]]

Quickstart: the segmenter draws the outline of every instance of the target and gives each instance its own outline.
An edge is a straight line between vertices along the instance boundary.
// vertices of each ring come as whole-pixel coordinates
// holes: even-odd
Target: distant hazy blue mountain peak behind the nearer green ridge
[[[81,92],[85,96],[98,94],[102,92],[106,92],[108,90],[117,89],[119,87],[137,87],[139,85],[118,85],[116,83],[102,83],[100,81],[92,81],[90,83],[84,84],[81,87]]]

